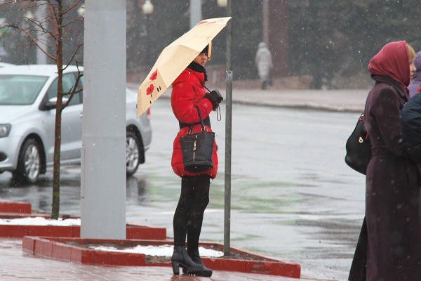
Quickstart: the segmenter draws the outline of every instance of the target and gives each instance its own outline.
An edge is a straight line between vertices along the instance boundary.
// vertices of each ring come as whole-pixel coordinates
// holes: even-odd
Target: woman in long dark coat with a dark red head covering
[[[421,280],[420,173],[402,143],[399,114],[415,72],[405,41],[386,44],[368,65],[375,81],[364,110],[372,157],[366,174],[366,218],[351,281]]]

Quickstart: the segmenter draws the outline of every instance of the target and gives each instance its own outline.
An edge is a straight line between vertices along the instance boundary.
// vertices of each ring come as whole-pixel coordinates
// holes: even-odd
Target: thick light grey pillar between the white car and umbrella
[[[85,8],[81,237],[126,239],[126,1]]]

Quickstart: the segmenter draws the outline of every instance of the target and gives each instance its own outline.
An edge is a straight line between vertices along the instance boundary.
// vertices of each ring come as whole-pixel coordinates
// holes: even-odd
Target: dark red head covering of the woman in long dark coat
[[[403,89],[410,82],[409,54],[405,41],[386,44],[368,64],[368,72],[399,82]]]

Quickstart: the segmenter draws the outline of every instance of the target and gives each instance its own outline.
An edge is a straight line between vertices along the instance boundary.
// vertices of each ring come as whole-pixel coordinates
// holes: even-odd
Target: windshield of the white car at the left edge
[[[0,75],[0,105],[32,105],[48,77]]]

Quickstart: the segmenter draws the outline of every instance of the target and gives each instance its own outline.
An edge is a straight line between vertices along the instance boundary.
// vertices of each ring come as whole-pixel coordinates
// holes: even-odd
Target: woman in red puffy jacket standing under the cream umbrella
[[[193,62],[187,66],[180,76],[173,82],[171,93],[171,107],[175,118],[180,123],[180,131],[174,139],[173,157],[171,165],[175,174],[181,177],[181,194],[173,218],[174,253],[171,257],[173,273],[183,273],[200,276],[212,275],[212,270],[203,266],[199,256],[199,236],[203,221],[203,212],[209,202],[210,178],[215,178],[218,171],[218,157],[216,144],[213,145],[213,168],[200,173],[185,171],[180,149],[180,137],[186,136],[189,125],[193,124],[193,133],[201,131],[199,112],[210,129],[209,114],[219,106],[218,99],[211,93],[205,93],[206,70],[208,60],[208,47],[203,49]],[[220,102],[220,100],[219,100]],[[185,240],[187,236],[187,251]]]

